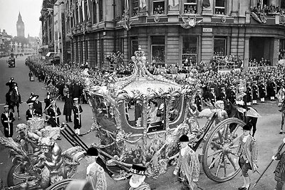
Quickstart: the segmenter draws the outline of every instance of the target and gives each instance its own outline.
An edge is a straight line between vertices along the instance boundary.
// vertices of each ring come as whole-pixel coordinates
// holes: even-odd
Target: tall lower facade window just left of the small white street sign
[[[185,66],[197,63],[197,36],[182,37],[182,63]]]

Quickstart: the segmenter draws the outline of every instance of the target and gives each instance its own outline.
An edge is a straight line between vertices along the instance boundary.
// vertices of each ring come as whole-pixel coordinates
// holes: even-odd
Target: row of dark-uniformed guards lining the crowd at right
[[[239,99],[239,94],[243,93],[243,105],[257,105],[257,100],[260,100],[260,102],[265,102],[267,97],[269,100],[274,101],[276,94],[281,88],[285,88],[283,79],[278,81],[271,80],[269,82],[261,79],[259,83],[257,83],[257,80],[254,80],[253,83],[248,81],[246,85],[244,84],[244,86],[242,86],[242,84],[238,84],[237,86],[231,85],[228,87],[225,85],[216,85],[211,88],[204,86],[197,91],[195,103],[200,112],[202,111],[202,100],[211,102],[212,105],[214,105],[217,100],[227,99],[229,102],[234,104],[234,102]]]

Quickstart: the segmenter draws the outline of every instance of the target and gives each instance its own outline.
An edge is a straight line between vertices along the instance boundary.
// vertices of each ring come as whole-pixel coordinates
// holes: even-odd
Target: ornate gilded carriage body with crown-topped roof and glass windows
[[[177,154],[177,139],[190,130],[185,115],[196,84],[182,86],[152,75],[145,67],[143,51],[136,51],[132,60],[132,75],[118,79],[106,75],[108,83],[86,88],[86,95],[100,138],[97,147],[111,159],[109,163],[144,164],[148,176],[156,177]],[[155,102],[154,112],[150,102]]]

